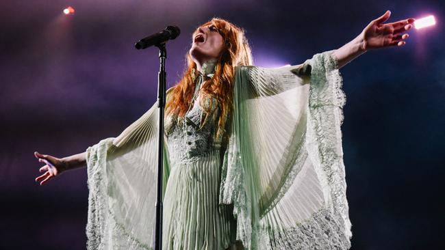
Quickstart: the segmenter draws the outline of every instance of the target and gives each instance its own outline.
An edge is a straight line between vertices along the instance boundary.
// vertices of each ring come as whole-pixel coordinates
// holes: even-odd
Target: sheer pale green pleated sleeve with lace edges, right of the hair
[[[236,68],[220,203],[246,249],[348,249],[345,96],[325,52],[298,66]]]

